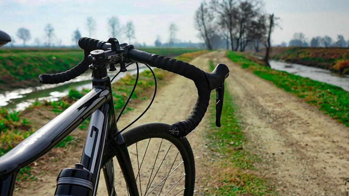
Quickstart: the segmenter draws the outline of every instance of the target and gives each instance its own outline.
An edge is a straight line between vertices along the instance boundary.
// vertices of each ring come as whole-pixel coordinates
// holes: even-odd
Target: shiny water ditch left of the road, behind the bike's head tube
[[[128,67],[127,73],[133,75],[137,71],[134,65]],[[140,71],[145,70],[144,65],[140,65]],[[109,73],[112,78],[117,72]],[[113,83],[125,76],[126,73],[120,73]],[[61,84],[43,84],[36,87],[15,89],[13,91],[0,92],[0,107],[6,106],[16,111],[24,110],[34,103],[35,100],[55,101],[68,95],[70,89],[82,90],[91,89],[91,73],[82,74],[73,80]]]

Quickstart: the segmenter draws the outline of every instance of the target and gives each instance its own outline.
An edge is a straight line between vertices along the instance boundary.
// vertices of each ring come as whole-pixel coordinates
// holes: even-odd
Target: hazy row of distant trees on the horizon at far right
[[[346,41],[343,35],[337,35],[337,39],[332,39],[330,36],[316,36],[307,39],[302,32],[297,32],[293,35],[290,40],[289,46],[300,46],[300,47],[349,47],[349,40]],[[287,46],[286,43],[282,43],[281,46]]]

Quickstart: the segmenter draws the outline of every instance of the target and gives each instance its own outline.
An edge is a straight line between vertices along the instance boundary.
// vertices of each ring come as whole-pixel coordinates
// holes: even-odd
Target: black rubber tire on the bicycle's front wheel
[[[140,141],[148,140],[150,138],[161,138],[163,140],[166,140],[166,141],[172,143],[174,146],[176,146],[176,148],[179,151],[179,154],[181,155],[181,158],[183,160],[184,171],[185,171],[185,176],[183,177],[185,179],[184,195],[191,196],[194,193],[194,185],[195,185],[195,162],[194,162],[193,151],[191,149],[191,146],[190,146],[188,140],[185,137],[184,138],[175,138],[175,137],[171,136],[169,134],[169,128],[170,128],[170,125],[166,124],[166,123],[160,123],[160,122],[146,123],[146,124],[134,127],[128,131],[125,131],[124,133],[122,133],[122,136],[124,137],[126,145],[128,146],[128,148],[130,148],[136,142],[138,143]],[[131,155],[131,153],[130,153],[130,155]],[[178,152],[177,152],[177,156],[178,156]],[[104,164],[106,163],[107,160],[110,160],[110,158],[111,158],[111,156],[109,153],[109,156],[106,156],[105,159],[103,160]],[[133,165],[133,167],[137,168],[137,165]],[[137,172],[135,172],[135,175],[137,175]],[[164,182],[164,183],[166,183],[166,182]],[[181,183],[183,183],[183,182],[181,182]],[[183,193],[183,191],[181,193]]]

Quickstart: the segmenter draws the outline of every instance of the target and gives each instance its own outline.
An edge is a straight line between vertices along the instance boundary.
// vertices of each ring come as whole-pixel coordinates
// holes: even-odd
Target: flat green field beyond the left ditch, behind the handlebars
[[[198,48],[140,48],[150,53],[178,56]],[[43,73],[66,71],[83,59],[78,49],[1,49],[0,90],[38,85],[37,78]]]

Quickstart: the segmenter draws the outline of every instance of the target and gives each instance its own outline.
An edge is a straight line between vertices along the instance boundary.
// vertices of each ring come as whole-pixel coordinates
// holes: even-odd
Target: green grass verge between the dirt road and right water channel
[[[248,63],[250,65],[248,69],[255,75],[303,98],[307,103],[317,106],[331,118],[349,127],[349,92],[338,86],[260,66],[243,53],[228,51],[227,56],[241,66]]]

